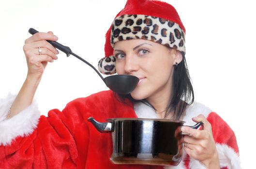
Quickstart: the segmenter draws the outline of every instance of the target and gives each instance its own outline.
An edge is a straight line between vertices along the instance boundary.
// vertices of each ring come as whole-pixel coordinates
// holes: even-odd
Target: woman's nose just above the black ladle
[[[131,74],[138,70],[138,59],[134,55],[126,55],[124,71],[126,74]]]

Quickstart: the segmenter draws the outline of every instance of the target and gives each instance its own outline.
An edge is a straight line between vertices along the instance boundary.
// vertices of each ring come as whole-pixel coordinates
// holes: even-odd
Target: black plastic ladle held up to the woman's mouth
[[[30,28],[29,32],[30,34],[33,35],[38,31],[33,28]],[[98,75],[104,81],[106,86],[116,93],[129,94],[135,89],[135,87],[139,82],[139,79],[136,76],[132,76],[132,75],[112,75],[112,76],[107,76],[103,78],[98,70],[96,70],[89,62],[87,62],[82,57],[75,55],[68,46],[64,46],[55,41],[47,41],[47,42],[51,43],[54,47],[60,49],[62,52],[64,52],[67,55],[67,57],[70,55],[73,55],[76,58],[88,64],[93,70],[95,70],[98,73]]]

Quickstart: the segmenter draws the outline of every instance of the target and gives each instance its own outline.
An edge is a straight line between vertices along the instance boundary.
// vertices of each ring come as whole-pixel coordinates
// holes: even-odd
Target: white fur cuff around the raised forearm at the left
[[[15,97],[7,97],[7,99],[0,100],[0,114],[3,114],[0,119],[6,118],[14,99]],[[37,127],[39,117],[40,112],[37,104],[33,101],[28,108],[14,117],[0,121],[0,145],[10,145],[16,137],[24,137],[32,133]]]

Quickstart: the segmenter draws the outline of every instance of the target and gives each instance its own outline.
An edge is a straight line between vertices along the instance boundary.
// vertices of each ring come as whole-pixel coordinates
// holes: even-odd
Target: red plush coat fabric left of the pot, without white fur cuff
[[[151,168],[114,165],[109,160],[113,148],[111,133],[102,134],[87,121],[89,116],[102,122],[107,118],[136,116],[133,107],[113,97],[112,91],[94,94],[70,102],[63,111],[54,109],[48,117],[40,116],[36,129],[28,136],[15,137],[10,146],[0,146],[0,169]]]

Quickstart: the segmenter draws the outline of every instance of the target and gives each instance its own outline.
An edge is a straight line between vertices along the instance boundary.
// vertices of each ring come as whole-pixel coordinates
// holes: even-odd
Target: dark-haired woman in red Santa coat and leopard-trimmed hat
[[[75,99],[62,111],[51,110],[48,117],[40,116],[32,102],[47,62],[58,59],[59,52],[45,40],[58,38],[40,32],[25,41],[27,78],[16,97],[0,100],[0,168],[163,168],[111,163],[111,136],[96,131],[87,121],[90,116],[99,121],[178,119],[188,125],[202,121],[203,130],[181,128],[190,135],[184,136],[182,161],[173,168],[240,168],[232,129],[207,107],[190,105],[194,93],[185,62],[185,28],[171,5],[128,0],[106,33],[106,57],[99,61],[99,69],[138,77],[130,95],[102,91]]]

